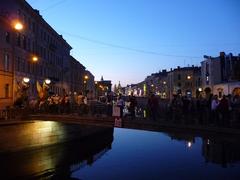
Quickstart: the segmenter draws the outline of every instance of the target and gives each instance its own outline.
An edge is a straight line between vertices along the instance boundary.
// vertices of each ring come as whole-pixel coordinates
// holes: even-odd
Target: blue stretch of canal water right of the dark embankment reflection
[[[234,138],[194,137],[114,129],[114,141],[79,179],[240,179],[240,144]]]

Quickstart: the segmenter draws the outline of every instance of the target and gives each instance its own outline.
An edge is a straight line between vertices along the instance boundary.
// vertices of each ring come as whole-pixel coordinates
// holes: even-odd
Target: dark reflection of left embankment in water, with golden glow
[[[104,128],[78,141],[31,151],[1,153],[0,179],[70,179],[72,172],[93,164],[111,149],[112,141],[113,128]]]

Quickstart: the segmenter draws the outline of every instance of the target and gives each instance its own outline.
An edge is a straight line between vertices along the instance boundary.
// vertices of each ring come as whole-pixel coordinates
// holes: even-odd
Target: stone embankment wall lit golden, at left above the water
[[[104,131],[104,128],[54,121],[4,124],[0,128],[0,153],[64,143],[85,138],[101,131]]]

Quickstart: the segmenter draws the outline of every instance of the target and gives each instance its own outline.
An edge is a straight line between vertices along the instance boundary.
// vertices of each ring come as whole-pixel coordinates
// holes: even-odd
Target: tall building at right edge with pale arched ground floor
[[[217,94],[239,94],[240,92],[240,55],[226,55],[220,52],[218,57],[204,56],[201,62],[202,86],[206,92]]]

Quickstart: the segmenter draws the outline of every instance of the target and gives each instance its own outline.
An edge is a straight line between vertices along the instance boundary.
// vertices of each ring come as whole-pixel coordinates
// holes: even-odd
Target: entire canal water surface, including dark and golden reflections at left
[[[0,153],[0,179],[240,179],[238,137],[80,127],[78,140]]]

